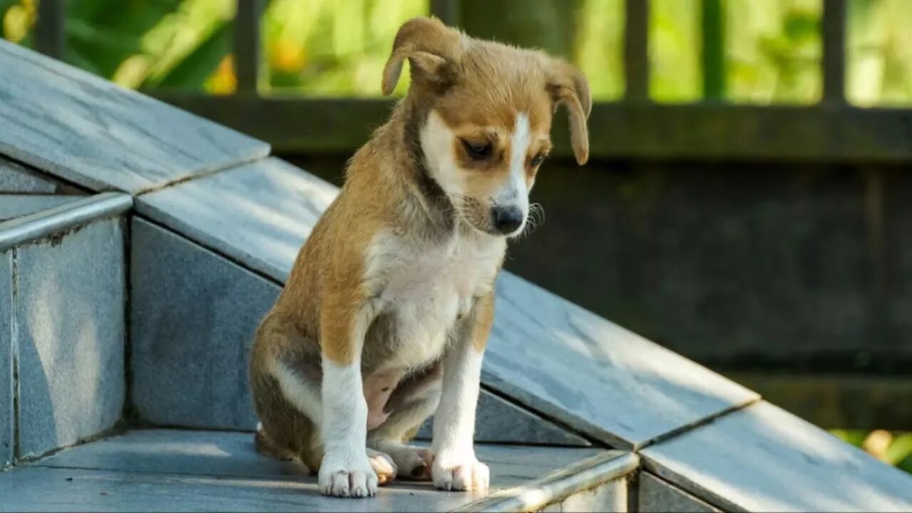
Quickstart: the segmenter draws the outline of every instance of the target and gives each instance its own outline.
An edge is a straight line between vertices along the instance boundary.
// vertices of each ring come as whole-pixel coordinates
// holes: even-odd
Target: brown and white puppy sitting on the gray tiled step
[[[254,343],[257,446],[318,469],[326,495],[394,476],[488,487],[472,436],[494,280],[559,105],[588,156],[588,85],[564,61],[433,18],[399,29],[385,94],[406,59],[408,95],[348,164]],[[430,449],[407,445],[431,414]]]

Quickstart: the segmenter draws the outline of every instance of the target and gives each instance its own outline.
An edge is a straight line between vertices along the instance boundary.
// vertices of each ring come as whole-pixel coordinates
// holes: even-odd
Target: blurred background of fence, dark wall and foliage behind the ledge
[[[558,118],[507,268],[912,472],[912,1],[0,0],[5,39],[334,183],[431,13],[592,85],[593,158]]]

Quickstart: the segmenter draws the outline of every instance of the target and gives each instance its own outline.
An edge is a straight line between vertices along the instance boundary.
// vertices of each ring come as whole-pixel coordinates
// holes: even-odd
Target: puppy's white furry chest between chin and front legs
[[[385,241],[378,308],[391,318],[383,367],[416,368],[440,357],[456,321],[486,294],[503,259],[496,239],[463,237],[446,244]]]

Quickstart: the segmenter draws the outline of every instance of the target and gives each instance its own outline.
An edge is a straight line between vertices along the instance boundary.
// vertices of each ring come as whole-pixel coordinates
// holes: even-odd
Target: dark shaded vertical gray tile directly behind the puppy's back
[[[153,424],[256,425],[247,384],[254,330],[279,288],[133,218],[131,400]]]

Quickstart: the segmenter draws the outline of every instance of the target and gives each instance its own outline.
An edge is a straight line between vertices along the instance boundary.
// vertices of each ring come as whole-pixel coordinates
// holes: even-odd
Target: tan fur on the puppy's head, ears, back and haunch
[[[557,106],[568,108],[576,160],[583,163],[588,157],[591,99],[586,79],[569,64],[542,52],[466,37],[436,19],[417,18],[396,37],[383,74],[385,94],[396,87],[406,58],[412,75],[408,96],[349,162],[341,193],[302,247],[254,340],[250,381],[263,424],[257,446],[270,455],[296,455],[312,471],[323,455],[318,426],[284,396],[276,368],[285,365],[318,377],[321,359],[344,365],[360,354],[362,373],[368,375],[390,361],[387,340],[396,325],[383,312],[371,310],[385,286],[382,269],[369,261],[372,245],[383,234],[421,244],[443,244],[456,233],[477,237],[472,234],[483,229],[479,216],[487,215],[485,198],[507,179],[504,161],[518,112],[528,116],[534,138],[525,156],[529,189],[538,169],[534,157],[551,149],[548,133]],[[490,142],[498,155],[491,162],[474,162],[461,141],[453,141],[469,204],[440,194],[419,162],[419,131],[431,113],[459,138]],[[475,325],[466,330],[479,351],[491,330],[492,287],[492,282],[485,284],[488,292],[476,297]],[[356,331],[364,322],[368,326],[359,347]],[[405,437],[417,429],[407,427]]]

